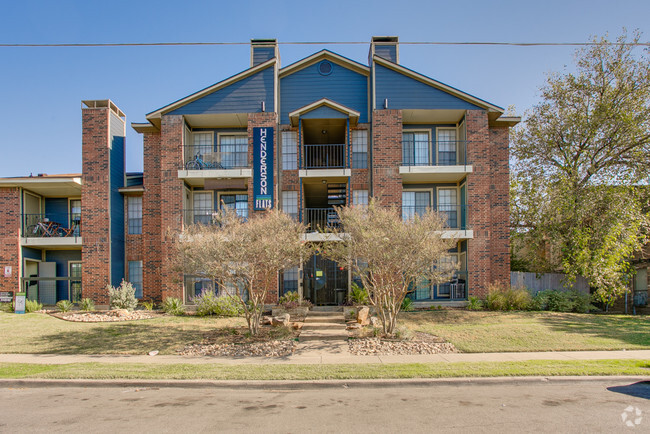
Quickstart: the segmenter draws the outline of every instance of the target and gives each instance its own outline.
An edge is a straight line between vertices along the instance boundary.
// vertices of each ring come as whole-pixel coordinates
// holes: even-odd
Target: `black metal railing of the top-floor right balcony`
[[[467,141],[405,140],[402,142],[403,166],[463,166],[467,163]]]

